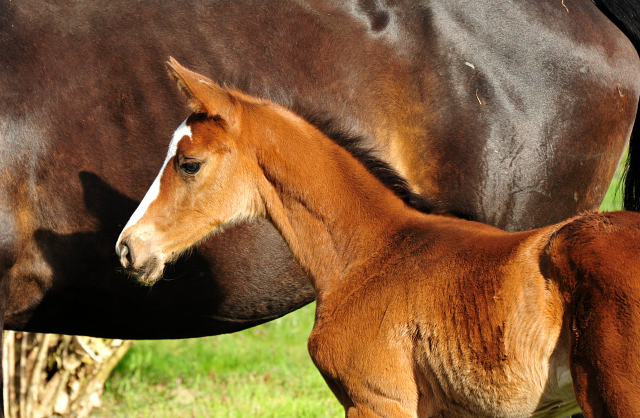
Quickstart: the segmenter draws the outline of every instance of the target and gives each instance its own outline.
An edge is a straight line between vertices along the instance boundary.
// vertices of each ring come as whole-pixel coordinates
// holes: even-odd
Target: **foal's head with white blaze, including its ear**
[[[264,103],[224,90],[173,59],[168,68],[194,113],[174,133],[158,177],[116,244],[122,265],[149,285],[166,263],[212,231],[264,212],[252,128],[243,123]]]

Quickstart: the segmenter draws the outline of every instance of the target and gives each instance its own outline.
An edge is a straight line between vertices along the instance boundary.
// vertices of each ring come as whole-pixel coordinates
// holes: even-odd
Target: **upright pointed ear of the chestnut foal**
[[[230,128],[238,122],[237,100],[231,93],[207,77],[184,68],[173,57],[167,62],[169,75],[178,83],[178,88],[196,113],[220,117]]]

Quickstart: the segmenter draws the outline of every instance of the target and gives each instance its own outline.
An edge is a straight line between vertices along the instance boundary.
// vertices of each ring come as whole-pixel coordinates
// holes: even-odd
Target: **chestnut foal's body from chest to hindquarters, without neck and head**
[[[310,353],[349,417],[636,416],[639,228],[411,225],[318,307]]]

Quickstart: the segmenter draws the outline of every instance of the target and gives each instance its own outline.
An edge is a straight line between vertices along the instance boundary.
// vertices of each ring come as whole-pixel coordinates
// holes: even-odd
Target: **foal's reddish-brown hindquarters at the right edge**
[[[565,301],[585,416],[640,416],[640,214],[576,218],[554,234],[542,260]]]

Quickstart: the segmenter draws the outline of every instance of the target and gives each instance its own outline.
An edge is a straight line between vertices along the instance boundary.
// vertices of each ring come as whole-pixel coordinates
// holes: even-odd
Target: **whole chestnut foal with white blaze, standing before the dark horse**
[[[141,282],[261,216],[317,292],[309,352],[347,417],[640,416],[639,215],[421,213],[290,111],[169,71],[194,114],[116,245]]]

